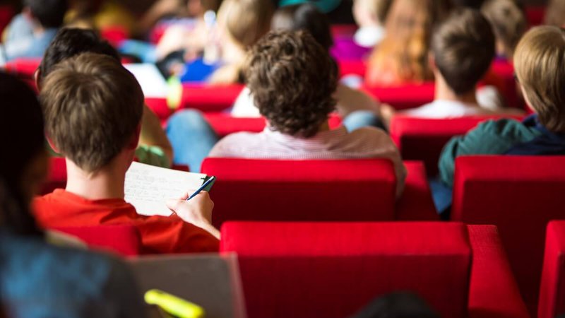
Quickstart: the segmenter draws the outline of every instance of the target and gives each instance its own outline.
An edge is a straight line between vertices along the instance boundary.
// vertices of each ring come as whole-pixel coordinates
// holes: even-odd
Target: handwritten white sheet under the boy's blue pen
[[[192,193],[204,182],[206,175],[131,163],[126,172],[126,202],[143,216],[170,216],[167,199],[177,199]]]

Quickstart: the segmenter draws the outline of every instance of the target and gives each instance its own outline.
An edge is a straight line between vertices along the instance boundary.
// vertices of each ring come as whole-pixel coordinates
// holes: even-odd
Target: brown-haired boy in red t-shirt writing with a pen
[[[85,53],[62,61],[42,81],[46,132],[66,157],[66,189],[35,199],[46,227],[131,224],[145,253],[213,252],[219,232],[203,192],[169,202],[169,217],[140,216],[124,201],[124,181],[138,145],[141,87],[112,57]]]

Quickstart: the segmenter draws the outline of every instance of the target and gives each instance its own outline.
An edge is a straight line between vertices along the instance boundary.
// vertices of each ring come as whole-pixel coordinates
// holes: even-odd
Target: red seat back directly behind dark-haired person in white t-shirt
[[[428,175],[434,176],[438,173],[441,150],[449,139],[466,134],[480,122],[493,118],[501,116],[426,119],[398,115],[391,121],[391,137],[404,160],[424,161]]]

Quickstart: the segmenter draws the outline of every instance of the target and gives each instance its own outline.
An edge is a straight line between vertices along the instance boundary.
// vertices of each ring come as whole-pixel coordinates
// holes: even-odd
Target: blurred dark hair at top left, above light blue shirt
[[[69,9],[67,0],[25,0],[24,5],[44,28],[61,28]]]

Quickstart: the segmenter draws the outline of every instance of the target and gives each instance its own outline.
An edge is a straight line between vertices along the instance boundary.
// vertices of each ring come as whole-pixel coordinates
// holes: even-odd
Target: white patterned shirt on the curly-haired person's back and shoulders
[[[281,134],[267,127],[260,133],[230,134],[216,143],[208,156],[286,160],[385,158],[394,165],[397,196],[404,189],[406,177],[406,169],[391,137],[373,127],[347,132],[340,126],[311,138]]]

